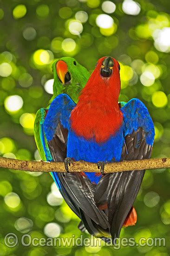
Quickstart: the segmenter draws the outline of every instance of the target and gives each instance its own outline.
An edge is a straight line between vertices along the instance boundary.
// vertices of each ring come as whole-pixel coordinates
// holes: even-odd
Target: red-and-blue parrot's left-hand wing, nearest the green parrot
[[[44,132],[53,161],[64,162],[67,155],[69,117],[75,105],[67,94],[60,94],[52,101],[47,112]],[[65,202],[83,220],[86,229],[95,236],[101,236],[98,229],[106,230],[109,224],[105,213],[94,202],[96,185],[82,173],[53,172],[53,178],[57,184],[59,182]]]

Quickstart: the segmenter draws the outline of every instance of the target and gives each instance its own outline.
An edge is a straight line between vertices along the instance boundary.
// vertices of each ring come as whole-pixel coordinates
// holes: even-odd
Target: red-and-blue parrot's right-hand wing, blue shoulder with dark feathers
[[[121,108],[124,115],[124,146],[121,161],[150,158],[154,141],[154,124],[147,108],[138,99],[132,99]],[[127,171],[105,175],[98,183],[94,200],[107,204],[111,236],[120,234],[124,221],[137,197],[143,171]]]

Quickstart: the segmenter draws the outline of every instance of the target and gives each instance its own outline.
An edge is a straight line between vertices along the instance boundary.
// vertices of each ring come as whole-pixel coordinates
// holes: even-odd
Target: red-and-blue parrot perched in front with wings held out
[[[59,94],[43,127],[48,160],[65,162],[67,172],[52,173],[65,202],[82,220],[82,229],[106,242],[118,238],[122,226],[136,223],[133,203],[145,170],[104,174],[105,163],[150,158],[155,135],[140,100],[118,104],[119,70],[114,58],[99,59],[77,105]],[[68,165],[79,160],[97,163],[101,173],[69,173]]]

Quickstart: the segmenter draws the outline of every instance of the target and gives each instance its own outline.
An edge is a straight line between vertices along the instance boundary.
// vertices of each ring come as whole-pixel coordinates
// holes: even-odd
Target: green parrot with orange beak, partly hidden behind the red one
[[[72,57],[62,57],[57,59],[52,64],[52,71],[54,74],[53,96],[46,108],[40,108],[37,111],[34,122],[35,142],[39,150],[39,155],[44,161],[46,161],[46,154],[49,156],[49,159],[51,158],[46,138],[43,133],[43,123],[50,103],[57,95],[62,93],[68,94],[72,100],[77,103],[78,95],[90,77],[90,73],[87,69]],[[42,141],[45,142],[45,148],[42,146]]]

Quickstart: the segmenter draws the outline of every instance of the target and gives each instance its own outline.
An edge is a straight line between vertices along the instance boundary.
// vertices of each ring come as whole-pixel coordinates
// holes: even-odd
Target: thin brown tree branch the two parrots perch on
[[[0,157],[0,168],[31,172],[65,172],[63,162],[21,161],[6,157]],[[105,164],[105,173],[159,168],[170,168],[170,158],[151,158],[145,160],[107,163]],[[100,172],[96,163],[84,161],[73,162],[69,168],[69,171]]]

